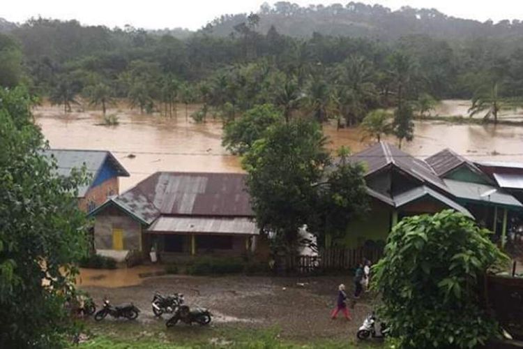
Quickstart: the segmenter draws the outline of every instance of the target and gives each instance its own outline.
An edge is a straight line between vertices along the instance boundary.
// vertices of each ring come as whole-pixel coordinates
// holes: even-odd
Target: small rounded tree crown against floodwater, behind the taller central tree
[[[233,154],[245,154],[252,144],[263,138],[269,127],[282,119],[282,113],[274,105],[255,105],[238,119],[225,124],[222,145]]]

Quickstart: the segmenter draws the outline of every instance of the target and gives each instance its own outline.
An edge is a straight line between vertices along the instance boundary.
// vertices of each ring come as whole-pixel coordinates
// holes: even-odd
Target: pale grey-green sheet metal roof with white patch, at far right
[[[521,202],[516,200],[512,195],[504,193],[501,189],[494,186],[470,183],[467,181],[455,181],[453,179],[445,179],[444,181],[453,195],[462,200],[504,205],[518,209],[523,207]]]

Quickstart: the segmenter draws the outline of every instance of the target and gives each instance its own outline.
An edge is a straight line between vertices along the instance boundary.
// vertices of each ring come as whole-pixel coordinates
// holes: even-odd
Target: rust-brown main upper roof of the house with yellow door
[[[245,177],[241,173],[156,172],[108,202],[146,224],[160,215],[252,217]]]

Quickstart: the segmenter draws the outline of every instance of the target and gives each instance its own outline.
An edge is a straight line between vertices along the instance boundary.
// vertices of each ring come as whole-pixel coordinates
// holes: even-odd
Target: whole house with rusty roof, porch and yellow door
[[[245,174],[156,172],[91,212],[98,253],[153,248],[163,260],[254,252]],[[118,253],[118,252],[116,252]]]

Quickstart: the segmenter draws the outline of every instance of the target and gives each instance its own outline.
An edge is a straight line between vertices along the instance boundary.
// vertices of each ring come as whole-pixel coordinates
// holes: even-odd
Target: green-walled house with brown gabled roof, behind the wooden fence
[[[342,241],[326,244],[361,246],[370,241],[384,242],[391,228],[404,216],[455,209],[472,216],[450,193],[425,161],[414,158],[392,144],[379,142],[349,157],[362,163],[370,196],[371,213],[347,228]]]

